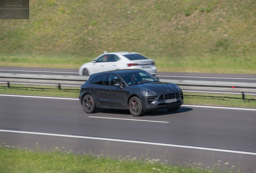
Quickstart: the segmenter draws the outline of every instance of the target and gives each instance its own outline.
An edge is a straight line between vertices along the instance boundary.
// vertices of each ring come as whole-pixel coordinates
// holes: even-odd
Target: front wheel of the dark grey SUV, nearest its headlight
[[[132,97],[129,101],[129,111],[134,117],[139,117],[145,114],[142,102],[138,97]]]

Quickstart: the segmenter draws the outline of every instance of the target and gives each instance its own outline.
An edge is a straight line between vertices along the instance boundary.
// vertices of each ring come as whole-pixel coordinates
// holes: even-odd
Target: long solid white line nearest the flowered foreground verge
[[[153,143],[153,142],[143,142],[143,141],[131,141],[131,140],[124,140],[124,139],[111,139],[111,138],[100,138],[100,137],[86,137],[86,136],[75,136],[75,135],[60,135],[60,134],[53,134],[53,133],[38,133],[38,132],[27,132],[27,131],[0,130],[0,132],[25,133],[25,134],[33,134],[33,135],[47,135],[47,136],[58,136],[58,137],[72,137],[72,138],[82,138],[82,139],[96,139],[96,140],[103,140],[103,141],[116,141],[116,142],[126,142],[126,143],[138,143],[138,144],[160,145],[160,146],[167,146],[167,147],[180,147],[180,148],[188,148],[188,149],[200,149],[200,150],[227,152],[227,153],[238,153],[238,154],[256,155],[256,153],[253,153],[253,152],[246,152],[246,151],[234,151],[234,150],[214,149],[214,148],[206,148],[206,147],[193,147],[193,146],[186,146],[186,145],[174,145],[174,144],[165,144],[165,143]]]

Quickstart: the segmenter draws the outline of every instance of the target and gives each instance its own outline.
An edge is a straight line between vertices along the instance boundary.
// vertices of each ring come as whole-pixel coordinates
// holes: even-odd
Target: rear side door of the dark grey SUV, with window
[[[91,95],[95,99],[97,107],[108,107],[107,105],[107,74],[101,74],[93,79],[90,87]]]

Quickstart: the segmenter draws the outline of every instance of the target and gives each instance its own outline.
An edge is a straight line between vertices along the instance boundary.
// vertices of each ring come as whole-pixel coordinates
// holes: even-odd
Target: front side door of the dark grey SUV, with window
[[[116,82],[123,84],[122,80],[115,74],[109,74],[107,91],[107,103],[110,108],[125,109],[127,107],[127,92],[123,84],[122,88],[114,87]]]

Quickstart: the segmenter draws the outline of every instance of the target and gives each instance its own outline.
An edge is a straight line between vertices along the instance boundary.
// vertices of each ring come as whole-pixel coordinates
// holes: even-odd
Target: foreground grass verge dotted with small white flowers
[[[40,151],[38,143],[33,149],[14,146],[0,146],[0,170],[4,173],[219,173],[240,172],[228,163],[220,167],[206,167],[192,161],[185,166],[171,166],[158,159],[131,158],[129,156],[109,157],[100,153],[72,153],[63,147]],[[66,151],[65,151],[66,150]],[[165,161],[164,161],[165,162]],[[229,169],[229,167],[231,167]]]

